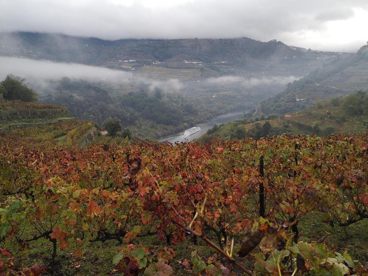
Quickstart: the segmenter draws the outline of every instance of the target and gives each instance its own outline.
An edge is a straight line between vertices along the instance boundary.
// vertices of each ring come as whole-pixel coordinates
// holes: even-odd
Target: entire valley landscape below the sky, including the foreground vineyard
[[[0,275],[368,273],[368,45],[2,32],[0,64]]]

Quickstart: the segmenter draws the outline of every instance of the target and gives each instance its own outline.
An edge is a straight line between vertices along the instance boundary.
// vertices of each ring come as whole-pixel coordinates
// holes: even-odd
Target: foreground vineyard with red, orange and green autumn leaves
[[[85,149],[20,136],[0,137],[3,273],[368,272],[366,134]]]

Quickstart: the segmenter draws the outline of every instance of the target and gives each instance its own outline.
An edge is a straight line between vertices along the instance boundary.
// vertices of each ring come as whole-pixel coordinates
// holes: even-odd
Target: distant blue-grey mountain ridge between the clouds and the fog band
[[[0,56],[82,63],[125,71],[145,67],[204,67],[212,70],[212,76],[306,75],[323,63],[346,56],[346,53],[307,50],[277,40],[261,42],[251,38],[111,41],[16,32],[1,33],[0,45]]]

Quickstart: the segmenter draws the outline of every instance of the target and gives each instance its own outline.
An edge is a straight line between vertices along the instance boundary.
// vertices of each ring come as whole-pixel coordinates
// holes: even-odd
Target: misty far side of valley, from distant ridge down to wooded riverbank
[[[134,135],[149,139],[249,110],[283,91],[287,83],[347,56],[248,38],[106,41],[18,32],[1,33],[0,45],[3,63],[23,68],[15,73],[28,79],[40,102],[66,106],[73,116],[100,125],[117,117]],[[74,73],[75,63],[88,67],[79,66]],[[39,73],[25,69],[32,66],[49,69]],[[110,71],[93,79],[84,77],[100,67]],[[62,68],[68,68],[69,75],[49,74]],[[6,66],[1,70],[4,77],[10,73]],[[131,93],[148,99],[157,89],[162,99],[155,105],[169,107],[160,109],[166,114],[148,103],[132,105],[128,99]]]

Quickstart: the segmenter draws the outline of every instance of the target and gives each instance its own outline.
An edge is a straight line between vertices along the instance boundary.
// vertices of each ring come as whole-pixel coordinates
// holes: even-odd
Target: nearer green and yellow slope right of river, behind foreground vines
[[[254,111],[254,110],[253,110]],[[251,117],[253,112],[246,114]],[[358,91],[344,98],[318,100],[314,107],[281,116],[270,115],[215,125],[198,140],[243,139],[286,134],[363,133],[368,131],[368,92]]]

